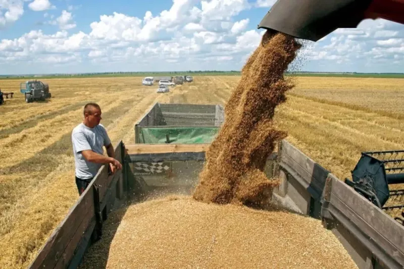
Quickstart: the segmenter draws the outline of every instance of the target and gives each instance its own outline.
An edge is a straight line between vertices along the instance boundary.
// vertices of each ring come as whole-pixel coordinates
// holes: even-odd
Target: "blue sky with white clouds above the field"
[[[275,0],[0,0],[0,74],[241,70]],[[292,15],[291,15],[292,16]],[[404,73],[404,25],[308,41],[294,71]]]

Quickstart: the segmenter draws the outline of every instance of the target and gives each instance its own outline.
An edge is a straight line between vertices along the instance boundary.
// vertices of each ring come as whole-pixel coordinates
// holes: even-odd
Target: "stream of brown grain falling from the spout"
[[[294,85],[283,77],[301,47],[293,37],[267,31],[246,62],[225,107],[225,123],[206,153],[193,193],[198,201],[254,203],[268,200],[279,184],[263,173],[275,142],[285,138],[273,124],[275,107]]]

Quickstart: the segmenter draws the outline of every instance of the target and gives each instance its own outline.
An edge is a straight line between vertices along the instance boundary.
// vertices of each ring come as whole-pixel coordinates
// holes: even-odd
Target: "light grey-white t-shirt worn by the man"
[[[76,177],[80,179],[95,177],[103,164],[88,162],[81,154],[81,151],[91,149],[96,153],[104,154],[103,146],[111,144],[105,127],[102,124],[98,124],[94,128],[88,128],[81,123],[73,129],[72,143],[76,165]]]

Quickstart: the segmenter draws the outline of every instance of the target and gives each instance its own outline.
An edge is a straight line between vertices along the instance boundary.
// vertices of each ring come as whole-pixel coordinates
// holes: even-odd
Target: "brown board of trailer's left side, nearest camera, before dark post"
[[[90,186],[82,193],[65,219],[58,225],[51,237],[46,241],[36,258],[29,265],[29,268],[54,268],[57,261],[64,255],[65,249],[71,239],[78,232],[82,225],[89,223],[93,217],[90,213],[94,210],[94,196]]]

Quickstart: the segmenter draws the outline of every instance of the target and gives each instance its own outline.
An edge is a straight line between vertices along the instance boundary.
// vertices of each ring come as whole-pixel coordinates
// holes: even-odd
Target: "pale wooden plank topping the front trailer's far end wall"
[[[128,154],[206,152],[210,144],[131,144],[125,145]]]

